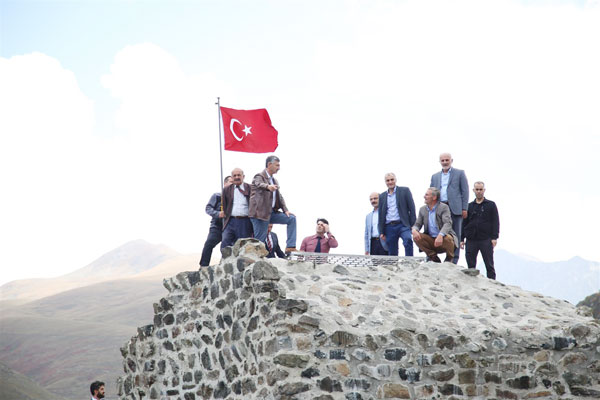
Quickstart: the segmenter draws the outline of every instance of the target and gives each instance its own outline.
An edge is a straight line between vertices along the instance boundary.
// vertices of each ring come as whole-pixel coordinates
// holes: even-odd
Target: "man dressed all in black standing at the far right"
[[[469,268],[477,265],[477,254],[481,251],[487,270],[487,277],[496,279],[494,270],[494,247],[500,233],[500,219],[496,203],[486,199],[485,185],[475,182],[473,185],[475,200],[469,203],[467,218],[464,220],[460,248],[465,248],[467,239],[466,259]]]

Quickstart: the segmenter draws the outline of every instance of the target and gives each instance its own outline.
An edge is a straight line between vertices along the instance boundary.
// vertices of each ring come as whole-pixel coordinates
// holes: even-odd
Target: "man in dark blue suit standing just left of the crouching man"
[[[415,216],[415,202],[410,189],[396,186],[396,175],[392,172],[385,175],[386,192],[379,195],[379,233],[385,240],[390,256],[398,255],[398,241],[402,238],[404,255],[413,255],[413,242],[410,227]]]

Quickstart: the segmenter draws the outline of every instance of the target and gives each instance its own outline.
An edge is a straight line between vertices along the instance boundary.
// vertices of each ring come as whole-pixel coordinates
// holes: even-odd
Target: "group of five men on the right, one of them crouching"
[[[440,262],[438,254],[446,253],[445,261],[456,264],[466,239],[468,267],[475,268],[481,252],[487,277],[496,279],[493,249],[500,230],[498,209],[484,197],[480,181],[475,182],[475,200],[469,203],[465,172],[452,163],[449,153],[440,155],[442,170],[432,175],[418,214],[410,189],[397,186],[395,174],[385,175],[387,191],[369,196],[373,211],[365,220],[365,254],[397,256],[402,239],[404,254],[412,256],[414,240],[430,261]]]

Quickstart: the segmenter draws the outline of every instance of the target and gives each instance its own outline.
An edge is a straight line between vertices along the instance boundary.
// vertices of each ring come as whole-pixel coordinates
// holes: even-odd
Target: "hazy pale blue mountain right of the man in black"
[[[577,304],[600,290],[600,263],[573,257],[545,263],[498,250],[494,254],[497,279],[509,285]],[[485,266],[478,262],[485,273]]]

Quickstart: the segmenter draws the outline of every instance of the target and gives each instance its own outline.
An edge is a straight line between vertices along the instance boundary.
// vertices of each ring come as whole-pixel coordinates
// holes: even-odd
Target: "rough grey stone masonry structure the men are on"
[[[166,279],[154,322],[121,349],[120,398],[600,398],[588,310],[453,264],[265,254],[243,239]]]

